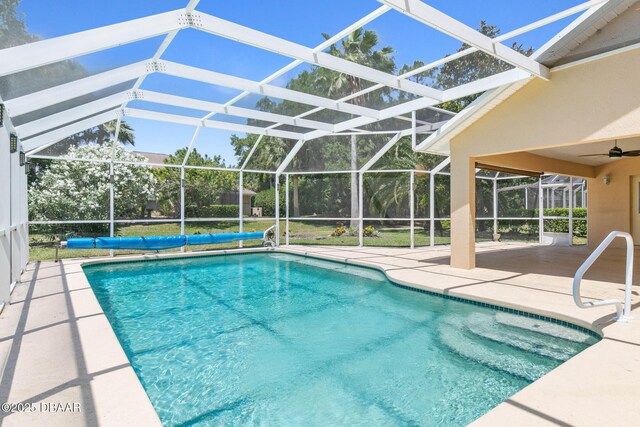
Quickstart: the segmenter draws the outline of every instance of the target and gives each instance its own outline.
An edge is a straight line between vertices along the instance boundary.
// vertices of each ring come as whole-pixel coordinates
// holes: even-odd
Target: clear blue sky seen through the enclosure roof
[[[474,28],[481,20],[508,32],[582,3],[580,0],[424,0]],[[28,30],[42,38],[54,38],[104,25],[180,9],[188,0],[22,0]],[[333,35],[379,8],[375,0],[201,0],[196,10],[308,46],[322,43],[322,33]],[[519,36],[526,47],[538,48],[578,15]],[[367,24],[375,30],[380,46],[394,49],[398,67],[415,60],[425,63],[455,52],[460,42],[396,11],[389,11]],[[153,56],[164,37],[156,37],[76,58],[91,73],[146,60]],[[508,43],[511,43],[509,41]],[[182,30],[162,59],[260,81],[292,61],[291,58],[217,37],[194,29]],[[284,86],[301,71],[302,65],[271,84]],[[142,89],[195,97],[225,103],[240,91],[175,77],[153,74]],[[253,95],[236,105],[252,108],[260,99]],[[137,102],[131,107],[202,117],[201,111],[162,107]],[[238,118],[216,115],[215,120],[242,122]],[[135,129],[136,150],[173,153],[189,144],[194,127],[127,118]],[[227,165],[236,163],[229,144],[231,133],[207,129],[201,132],[195,147],[211,156],[221,155]],[[242,136],[242,134],[239,134]]]

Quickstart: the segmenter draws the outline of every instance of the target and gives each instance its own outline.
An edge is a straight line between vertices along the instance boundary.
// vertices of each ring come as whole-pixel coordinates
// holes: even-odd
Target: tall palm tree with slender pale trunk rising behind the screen
[[[325,39],[329,38],[328,34],[323,34]],[[393,60],[393,48],[383,47],[380,50],[374,50],[378,44],[378,35],[375,31],[365,30],[361,28],[355,30],[340,46],[331,45],[329,53],[331,55],[346,59],[356,64],[366,65],[376,70],[393,73],[396,69]],[[347,95],[354,94],[366,88],[369,82],[362,80],[349,74],[338,73],[326,69],[320,69],[319,81],[328,85],[329,96],[334,98],[342,98]],[[388,90],[370,92],[360,95],[350,102],[355,105],[374,107],[384,102],[384,95]],[[358,217],[358,140],[355,135],[351,136],[351,227],[356,227],[355,218]]]

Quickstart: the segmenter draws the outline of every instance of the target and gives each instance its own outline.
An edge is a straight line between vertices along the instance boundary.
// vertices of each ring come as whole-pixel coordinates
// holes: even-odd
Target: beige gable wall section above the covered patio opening
[[[451,146],[513,153],[640,136],[640,49],[532,80],[465,129]]]

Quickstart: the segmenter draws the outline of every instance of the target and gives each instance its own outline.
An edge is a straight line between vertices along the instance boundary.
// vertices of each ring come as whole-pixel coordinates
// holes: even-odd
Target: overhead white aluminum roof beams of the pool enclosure
[[[210,109],[210,112],[207,116],[205,116],[204,119],[208,119],[211,115],[219,112],[224,112],[226,114],[237,114],[240,117],[246,118],[256,118],[258,115],[261,117],[265,117],[265,115],[263,114],[251,112],[249,111],[249,109],[238,109],[238,107],[233,107],[232,105],[237,100],[246,96],[247,93],[261,93],[267,96],[288,99],[293,102],[303,102],[310,105],[315,105],[317,108],[312,110],[312,112],[318,111],[318,109],[322,108],[332,108],[338,111],[345,111],[359,116],[355,119],[347,120],[346,122],[333,126],[333,132],[341,132],[349,130],[353,127],[373,123],[377,120],[384,120],[385,118],[413,113],[417,109],[432,107],[433,105],[441,101],[457,99],[462,96],[471,95],[473,93],[478,93],[515,81],[527,79],[530,77],[530,75],[547,78],[548,69],[546,69],[546,67],[542,66],[534,59],[528,58],[502,45],[501,42],[584,10],[587,10],[587,13],[589,13],[590,11],[601,7],[605,2],[605,0],[588,1],[581,5],[574,6],[565,11],[556,13],[555,15],[552,15],[550,17],[525,25],[502,36],[490,39],[418,0],[380,1],[382,3],[385,3],[385,6],[382,6],[381,8],[365,16],[361,20],[347,27],[345,30],[338,33],[336,36],[332,37],[330,40],[327,40],[325,43],[322,43],[316,48],[307,48],[305,46],[272,36],[270,34],[259,32],[251,28],[238,25],[224,19],[220,19],[215,16],[198,12],[195,10],[198,1],[194,0],[190,1],[185,9],[161,13],[146,18],[123,22],[120,24],[109,25],[106,27],[83,31],[68,36],[43,40],[23,46],[17,46],[15,48],[4,49],[0,51],[0,62],[2,62],[2,58],[7,59],[7,61],[5,61],[6,66],[0,66],[0,75],[28,70],[37,66],[46,65],[64,59],[74,58],[121,44],[132,43],[145,38],[166,34],[166,37],[158,48],[157,52],[149,61],[132,64],[131,66],[121,67],[116,70],[111,70],[106,73],[101,73],[96,76],[81,79],[77,82],[72,82],[56,88],[40,91],[40,93],[38,94],[39,96],[33,96],[36,94],[32,94],[20,97],[16,100],[10,100],[7,103],[7,111],[9,114],[14,116],[24,114],[26,112],[33,111],[34,108],[43,108],[46,105],[51,105],[51,103],[61,102],[61,100],[64,100],[65,98],[71,99],[71,97],[85,94],[91,89],[95,90],[95,88],[98,87],[108,87],[118,82],[121,83],[124,81],[128,81],[131,78],[136,79],[136,83],[133,87],[132,98],[137,99],[136,95],[138,89],[144,81],[146,75],[152,72],[163,72],[182,78],[192,78],[245,91],[243,92],[243,94],[235,97],[224,105],[207,105],[206,103],[202,103],[198,100],[190,100],[187,102],[186,99],[180,97],[170,98],[171,95],[158,93],[149,94],[150,96],[155,97],[157,102],[176,102],[182,105],[193,105],[195,103],[198,104],[200,108],[208,108]],[[431,64],[427,64],[417,70],[412,70],[401,76],[392,76],[378,70],[370,69],[359,64],[354,64],[344,59],[326,54],[322,51],[332,43],[338,41],[341,37],[347,35],[350,31],[353,31],[353,29],[359,28],[360,26],[378,18],[379,16],[387,12],[390,8],[399,10],[400,12],[410,16],[413,19],[436,28],[438,31],[441,31],[465,43],[468,43],[472,47],[442,60],[434,61]],[[295,58],[295,60],[262,82],[251,82],[249,80],[240,79],[234,76],[227,76],[209,70],[201,70],[195,67],[190,67],[188,65],[176,64],[170,61],[161,60],[160,57],[162,53],[169,47],[177,32],[180,29],[188,27],[196,28],[201,31],[229,38],[237,42],[248,44],[263,50],[276,52],[278,54],[285,54],[287,56]],[[424,72],[425,70],[431,69],[477,50],[482,50],[492,56],[495,56],[498,59],[511,63],[517,68],[505,73],[500,73],[496,76],[491,76],[445,91],[440,91],[407,80],[409,77],[419,72]],[[8,61],[8,55],[12,56],[13,61]],[[313,97],[307,94],[302,94],[300,92],[290,91],[288,89],[279,88],[267,84],[274,78],[284,74],[284,72],[291,70],[295,66],[305,62],[317,66],[324,66],[334,71],[348,73],[377,83],[376,85],[374,85],[374,87],[364,89],[359,94],[367,93],[372,90],[388,86],[419,95],[421,96],[421,98],[382,111],[376,111],[349,104],[344,100],[336,102],[327,98]],[[42,96],[44,94],[49,96]],[[358,96],[359,94],[354,94],[352,96]],[[140,96],[144,97],[144,92],[142,92]],[[46,101],[39,101],[42,99]],[[126,104],[126,101],[123,102],[122,108],[126,107]],[[96,104],[94,104],[94,106],[95,105]],[[233,107],[232,110],[225,110],[231,107]],[[308,114],[310,113],[311,112],[308,112]],[[272,121],[278,119],[275,116],[276,115],[272,115],[268,120]],[[72,114],[66,115],[64,114],[64,112],[62,112],[59,113],[56,119],[62,120],[63,118],[65,118],[72,121],[73,117],[74,116]],[[317,121],[315,121],[315,123],[314,121],[303,121],[301,120],[302,117],[303,116],[295,119],[281,117],[281,120],[279,120],[278,123],[292,124],[295,123],[297,119],[298,123],[294,125],[315,129],[315,131],[309,132],[305,135],[306,140],[318,138],[332,132],[332,125],[326,123],[322,124]],[[174,121],[175,120],[176,119],[174,118]],[[58,122],[53,119],[51,122],[42,121],[37,124],[38,126],[35,126],[32,129],[46,130],[46,127],[49,124],[52,126],[51,129],[53,129],[53,127],[56,127],[54,126],[56,123]],[[27,123],[27,125],[29,124]],[[34,135],[33,132],[35,132],[35,130],[32,130],[31,132],[23,131],[24,136],[22,136],[22,138],[28,138],[28,136]],[[34,143],[29,144],[29,146],[32,147],[34,145]]]

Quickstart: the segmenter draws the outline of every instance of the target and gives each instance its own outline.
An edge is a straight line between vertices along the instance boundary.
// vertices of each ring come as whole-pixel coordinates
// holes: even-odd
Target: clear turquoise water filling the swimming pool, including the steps
[[[169,426],[465,425],[597,341],[282,253],[85,273]]]

